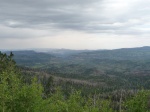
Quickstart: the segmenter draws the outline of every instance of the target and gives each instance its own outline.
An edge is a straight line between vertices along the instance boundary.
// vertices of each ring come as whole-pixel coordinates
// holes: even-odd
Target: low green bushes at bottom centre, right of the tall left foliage
[[[48,102],[50,112],[99,112],[98,107],[89,107],[89,102],[86,102],[79,91],[74,91],[69,98],[65,98],[63,93],[57,90]]]

